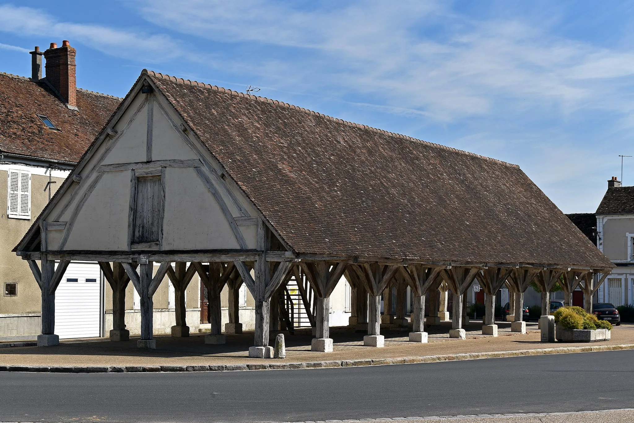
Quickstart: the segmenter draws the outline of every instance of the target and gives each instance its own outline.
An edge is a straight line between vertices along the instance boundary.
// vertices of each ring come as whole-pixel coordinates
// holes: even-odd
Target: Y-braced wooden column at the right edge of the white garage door
[[[130,278],[121,263],[114,262],[111,267],[109,262],[100,261],[99,267],[112,289],[110,341],[129,341],[130,331],[126,329],[126,288]]]

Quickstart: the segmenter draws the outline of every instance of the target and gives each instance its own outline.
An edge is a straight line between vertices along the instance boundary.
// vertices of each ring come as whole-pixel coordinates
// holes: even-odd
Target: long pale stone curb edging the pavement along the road
[[[363,360],[325,360],[305,363],[247,363],[226,365],[164,365],[164,366],[3,366],[0,372],[37,373],[157,373],[157,372],[236,372],[244,370],[294,370],[302,368],[366,367],[411,363],[438,363],[440,361],[481,360],[483,358],[503,358],[538,356],[549,354],[597,353],[634,349],[634,344],[596,345],[582,347],[560,347],[540,349],[519,349],[517,351],[491,351],[488,353],[462,353],[448,355],[413,356],[403,358],[377,358]]]

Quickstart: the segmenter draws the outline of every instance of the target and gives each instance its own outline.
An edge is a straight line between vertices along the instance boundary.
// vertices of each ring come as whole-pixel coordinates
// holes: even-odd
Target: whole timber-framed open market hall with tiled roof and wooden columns
[[[224,342],[221,290],[235,296],[244,283],[256,302],[249,356],[261,358],[290,278],[307,278],[316,295],[313,350],[332,351],[330,294],[342,276],[364,343],[382,346],[380,296],[396,278],[413,293],[410,341],[425,342],[425,296],[436,316],[441,285],[454,295],[450,335],[464,337],[474,280],[486,294],[483,333],[494,334],[501,287],[521,308],[538,283],[548,315],[563,276],[567,301],[580,286],[589,309],[613,268],[518,166],[148,70],[14,251],[41,288],[39,345],[58,343],[55,290],[68,263],[97,261],[113,292],[111,339],[128,338],[132,282],[138,346],[155,348],[152,296],[165,275],[176,289],[172,335],[186,335],[183,293],[198,274],[209,342]],[[522,313],[515,320],[525,330]]]

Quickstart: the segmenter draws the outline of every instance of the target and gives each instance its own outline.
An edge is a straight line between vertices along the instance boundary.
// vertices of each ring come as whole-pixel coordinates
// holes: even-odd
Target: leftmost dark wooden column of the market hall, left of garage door
[[[60,344],[60,337],[55,335],[55,290],[60,284],[68,260],[62,260],[55,269],[55,261],[42,254],[42,270],[37,261],[29,260],[29,267],[42,292],[42,334],[37,335],[37,346],[46,347]]]

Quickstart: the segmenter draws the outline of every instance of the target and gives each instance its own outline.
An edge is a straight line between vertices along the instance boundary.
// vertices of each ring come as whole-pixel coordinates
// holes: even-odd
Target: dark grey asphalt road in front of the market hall
[[[0,373],[0,421],[254,422],[634,406],[634,351],[357,368]]]

